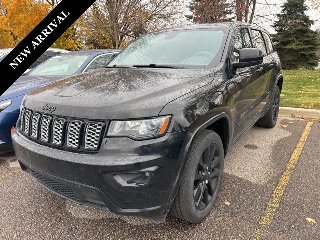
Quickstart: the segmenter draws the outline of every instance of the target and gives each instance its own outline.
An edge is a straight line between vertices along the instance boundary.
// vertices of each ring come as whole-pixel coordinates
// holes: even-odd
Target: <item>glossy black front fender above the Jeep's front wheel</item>
[[[228,122],[228,141],[230,145],[234,126],[232,113],[234,111],[232,95],[227,92],[229,81],[223,80],[221,74],[210,84],[183,95],[163,107],[159,115],[173,115],[168,132],[187,130],[184,142],[175,164],[175,175],[172,176],[172,191],[168,192],[168,199],[173,200],[184,172],[187,154],[196,134],[221,118]]]

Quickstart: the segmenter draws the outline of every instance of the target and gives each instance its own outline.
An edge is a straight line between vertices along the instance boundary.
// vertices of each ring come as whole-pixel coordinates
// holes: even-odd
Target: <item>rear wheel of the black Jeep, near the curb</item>
[[[280,88],[276,86],[274,96],[271,101],[270,108],[266,114],[261,117],[257,125],[260,127],[273,128],[276,125],[280,107]]]

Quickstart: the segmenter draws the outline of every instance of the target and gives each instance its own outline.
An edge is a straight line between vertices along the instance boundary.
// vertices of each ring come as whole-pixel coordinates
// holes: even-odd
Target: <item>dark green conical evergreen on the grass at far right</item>
[[[284,69],[313,69],[318,64],[318,34],[311,30],[314,21],[305,14],[307,10],[305,0],[288,0],[272,26],[277,32],[273,42]]]

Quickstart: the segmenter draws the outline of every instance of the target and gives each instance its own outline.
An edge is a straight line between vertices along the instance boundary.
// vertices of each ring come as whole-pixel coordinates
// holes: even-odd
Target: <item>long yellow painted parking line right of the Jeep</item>
[[[308,122],[304,128],[304,131],[302,132],[302,135],[300,137],[300,140],[298,144],[295,146],[295,149],[291,155],[291,158],[286,165],[285,171],[283,172],[277,186],[274,189],[274,192],[272,194],[272,197],[267,204],[267,207],[264,211],[263,216],[260,219],[259,227],[255,230],[254,234],[250,238],[250,240],[260,240],[262,239],[265,231],[270,226],[273,217],[277,211],[277,208],[280,204],[280,201],[283,197],[285,188],[288,185],[288,182],[290,180],[290,177],[292,173],[294,172],[294,168],[296,164],[298,163],[299,157],[301,155],[302,149],[304,147],[304,144],[306,142],[306,139],[310,133],[311,127],[313,125],[313,122]]]

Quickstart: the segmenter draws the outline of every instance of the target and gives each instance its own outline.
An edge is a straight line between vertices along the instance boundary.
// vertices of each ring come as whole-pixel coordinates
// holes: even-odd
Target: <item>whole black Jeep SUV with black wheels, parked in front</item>
[[[233,22],[145,34],[105,68],[28,94],[12,134],[21,168],[71,201],[201,222],[224,156],[274,127],[281,63],[269,34]]]

